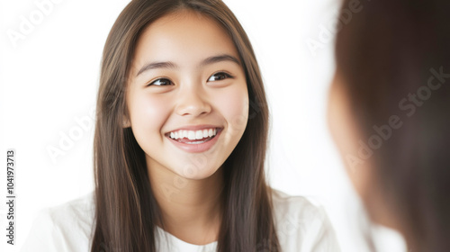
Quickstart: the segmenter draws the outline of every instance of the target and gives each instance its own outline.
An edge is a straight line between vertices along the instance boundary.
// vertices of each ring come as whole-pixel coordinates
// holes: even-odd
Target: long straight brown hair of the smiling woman
[[[139,35],[178,10],[211,17],[229,33],[247,78],[247,129],[225,161],[224,213],[218,251],[279,251],[264,163],[268,133],[266,94],[257,60],[238,20],[218,0],[133,0],[106,40],[94,134],[95,227],[92,251],[156,251],[161,212],[148,179],[143,150],[130,128],[125,90]],[[264,247],[262,247],[264,246]]]

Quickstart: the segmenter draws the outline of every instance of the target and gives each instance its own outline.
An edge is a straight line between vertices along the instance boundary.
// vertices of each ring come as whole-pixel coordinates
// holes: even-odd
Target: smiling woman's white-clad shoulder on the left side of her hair
[[[88,251],[94,193],[39,211],[21,251]]]

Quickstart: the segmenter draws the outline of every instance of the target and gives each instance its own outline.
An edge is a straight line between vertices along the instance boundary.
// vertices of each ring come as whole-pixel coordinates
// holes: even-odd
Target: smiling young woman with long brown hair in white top
[[[27,246],[339,251],[323,210],[267,186],[267,133],[257,60],[225,4],[131,1],[103,51],[94,195],[36,224],[69,237],[31,237]]]

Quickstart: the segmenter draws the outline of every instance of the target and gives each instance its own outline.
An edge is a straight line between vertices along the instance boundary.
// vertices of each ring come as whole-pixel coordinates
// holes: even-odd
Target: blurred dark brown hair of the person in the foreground
[[[344,2],[341,14],[353,1]],[[382,193],[412,251],[450,251],[450,2],[362,4],[338,33],[336,58],[363,139],[384,129],[371,191]],[[392,116],[401,123],[388,133]]]

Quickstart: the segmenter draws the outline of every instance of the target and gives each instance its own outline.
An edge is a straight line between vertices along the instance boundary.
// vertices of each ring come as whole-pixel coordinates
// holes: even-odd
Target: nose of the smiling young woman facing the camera
[[[186,87],[179,95],[176,113],[182,116],[200,116],[211,112],[211,104],[205,99],[202,88]]]

